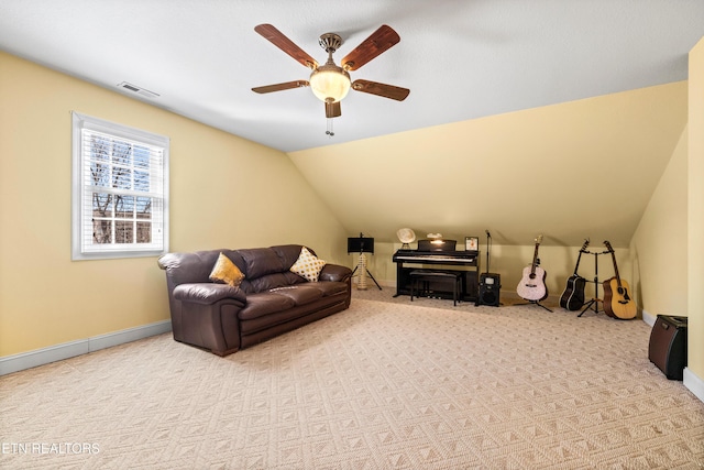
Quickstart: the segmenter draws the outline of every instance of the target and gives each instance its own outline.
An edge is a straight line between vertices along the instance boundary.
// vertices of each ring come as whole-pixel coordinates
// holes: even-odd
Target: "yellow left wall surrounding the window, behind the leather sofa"
[[[168,318],[155,258],[70,260],[70,111],[170,136],[170,250],[344,232],[283,153],[0,52],[0,357]]]

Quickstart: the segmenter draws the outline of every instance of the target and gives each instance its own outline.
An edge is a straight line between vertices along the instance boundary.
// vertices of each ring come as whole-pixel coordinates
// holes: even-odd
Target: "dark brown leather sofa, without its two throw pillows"
[[[301,248],[287,244],[161,256],[174,339],[227,356],[348,308],[352,271],[326,264],[317,282],[306,281],[289,271]],[[210,281],[220,253],[244,274],[239,287]]]

